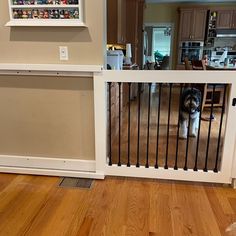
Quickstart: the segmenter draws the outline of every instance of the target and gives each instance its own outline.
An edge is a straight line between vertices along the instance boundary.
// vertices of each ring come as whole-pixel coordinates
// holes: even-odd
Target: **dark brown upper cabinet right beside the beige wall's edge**
[[[126,0],[107,0],[107,43],[126,43]]]

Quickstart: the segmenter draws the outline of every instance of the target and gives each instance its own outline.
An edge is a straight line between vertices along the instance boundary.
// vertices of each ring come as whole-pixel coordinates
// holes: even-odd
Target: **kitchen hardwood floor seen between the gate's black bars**
[[[171,115],[169,128],[169,146],[168,146],[168,167],[174,167],[176,159],[177,146],[177,128],[178,128],[178,111],[179,111],[179,86],[172,89],[171,99]],[[127,94],[128,96],[128,94]],[[157,114],[159,104],[158,87],[152,86],[151,89],[151,111],[150,111],[150,133],[149,133],[149,151],[148,161],[150,166],[154,166],[156,162],[156,145],[157,145]],[[137,163],[137,139],[138,139],[138,120],[137,120],[137,98],[131,102],[131,128],[130,128],[130,162],[132,165]],[[168,123],[168,106],[169,106],[169,86],[163,85],[161,96],[161,112],[160,112],[160,131],[158,145],[158,166],[164,167],[167,152],[167,123]],[[112,110],[114,111],[114,108]],[[117,111],[116,111],[117,114]],[[211,123],[211,135],[208,151],[207,169],[213,170],[216,163],[217,143],[219,136],[221,108],[214,108],[215,120]],[[112,161],[113,164],[118,163],[118,116],[112,116]],[[202,117],[210,117],[210,109],[204,109]],[[139,162],[141,166],[145,166],[147,157],[147,122],[148,121],[148,85],[145,84],[141,94],[141,118],[140,118],[140,152]],[[219,146],[218,167],[220,167],[226,115],[223,118],[221,142]],[[208,140],[209,122],[201,121],[201,132],[199,138],[197,168],[203,170],[205,167],[207,140]],[[185,139],[178,139],[178,168],[184,168],[186,159]],[[197,138],[191,137],[188,145],[187,166],[193,169],[195,166]],[[122,109],[121,113],[121,164],[126,165],[128,159],[128,105]]]

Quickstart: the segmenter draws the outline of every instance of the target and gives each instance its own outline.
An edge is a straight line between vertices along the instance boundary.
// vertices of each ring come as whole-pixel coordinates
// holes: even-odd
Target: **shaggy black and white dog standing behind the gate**
[[[196,88],[186,88],[181,95],[179,137],[196,137],[199,125],[201,92]],[[190,118],[190,120],[189,120]]]

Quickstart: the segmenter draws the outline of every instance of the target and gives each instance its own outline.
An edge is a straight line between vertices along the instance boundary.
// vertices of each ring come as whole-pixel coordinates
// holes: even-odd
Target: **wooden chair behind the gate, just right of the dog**
[[[193,70],[206,70],[205,61],[193,60],[192,68]],[[211,107],[212,96],[213,96],[213,86],[209,84],[205,84],[202,92],[203,92],[203,99],[202,99],[202,111],[203,111],[205,107]],[[222,107],[223,97],[224,97],[224,86],[216,85],[213,106]]]

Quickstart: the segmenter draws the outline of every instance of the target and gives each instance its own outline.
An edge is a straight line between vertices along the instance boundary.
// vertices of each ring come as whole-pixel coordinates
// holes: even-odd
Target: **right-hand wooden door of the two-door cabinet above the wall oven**
[[[194,40],[204,41],[205,29],[206,29],[206,18],[207,10],[197,9],[194,10],[194,22],[191,32],[191,38]]]

